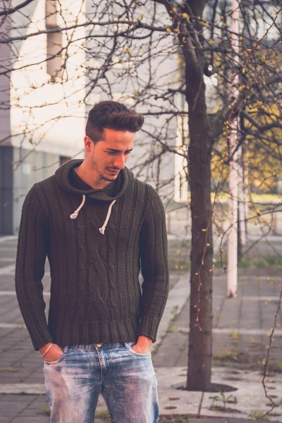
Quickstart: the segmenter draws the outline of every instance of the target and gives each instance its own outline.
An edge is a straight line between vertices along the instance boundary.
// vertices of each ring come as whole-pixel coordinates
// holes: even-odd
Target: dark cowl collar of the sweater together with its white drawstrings
[[[111,209],[114,206],[114,203],[116,202],[116,200],[118,200],[118,198],[124,195],[125,191],[128,188],[128,185],[130,183],[133,184],[134,175],[133,175],[133,172],[130,171],[126,167],[121,169],[120,171],[121,176],[118,175],[118,192],[116,193],[114,197],[111,197],[110,195],[108,195],[106,192],[104,192],[103,189],[95,190],[94,188],[91,188],[91,190],[78,190],[77,188],[74,188],[71,185],[69,176],[70,176],[70,172],[73,171],[73,168],[80,166],[80,164],[82,164],[82,161],[83,160],[81,159],[80,160],[76,159],[76,160],[70,160],[66,164],[63,164],[63,166],[59,167],[59,169],[56,170],[55,178],[64,191],[70,192],[71,194],[74,194],[74,195],[81,195],[82,197],[80,206],[71,214],[70,219],[76,219],[78,217],[78,214],[80,210],[82,209],[82,207],[84,206],[87,198],[111,202],[109,204],[109,208],[106,214],[104,224],[101,228],[99,228],[99,232],[102,233],[102,235],[104,235],[106,225],[108,224],[110,216],[111,216]]]

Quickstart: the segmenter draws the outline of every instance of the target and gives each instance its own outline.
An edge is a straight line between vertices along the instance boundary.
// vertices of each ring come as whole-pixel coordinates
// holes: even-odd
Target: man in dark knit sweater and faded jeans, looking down
[[[150,346],[168,295],[165,213],[157,191],[125,167],[142,124],[123,104],[96,104],[85,159],[36,183],[23,204],[16,293],[44,360],[52,423],[92,423],[99,393],[114,423],[159,418]]]

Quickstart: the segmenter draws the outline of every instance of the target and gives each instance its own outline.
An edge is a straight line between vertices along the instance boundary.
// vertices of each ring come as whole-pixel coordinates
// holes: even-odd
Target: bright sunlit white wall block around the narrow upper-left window
[[[80,1],[60,1],[63,18],[59,26],[83,23]],[[18,15],[17,15],[18,16]],[[30,16],[27,33],[45,30],[45,0],[37,0]],[[11,135],[12,145],[66,156],[78,154],[85,130],[85,76],[82,66],[85,54],[80,41],[85,28],[63,32],[63,57],[68,53],[63,78],[51,82],[47,73],[47,35],[30,37],[20,45],[11,74]],[[72,40],[72,42],[70,42]]]

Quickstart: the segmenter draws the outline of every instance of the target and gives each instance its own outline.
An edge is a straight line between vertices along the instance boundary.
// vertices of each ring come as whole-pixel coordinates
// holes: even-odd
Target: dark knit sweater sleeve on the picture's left
[[[48,238],[49,223],[35,184],[23,203],[15,278],[18,304],[35,350],[52,341],[42,285]]]

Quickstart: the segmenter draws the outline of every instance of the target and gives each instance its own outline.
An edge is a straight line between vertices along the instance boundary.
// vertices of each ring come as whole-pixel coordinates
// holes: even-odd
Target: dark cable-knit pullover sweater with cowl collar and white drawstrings
[[[16,294],[32,344],[135,342],[140,335],[154,342],[169,282],[161,198],[127,167],[102,190],[79,186],[73,169],[81,163],[68,161],[36,183],[23,204]]]

